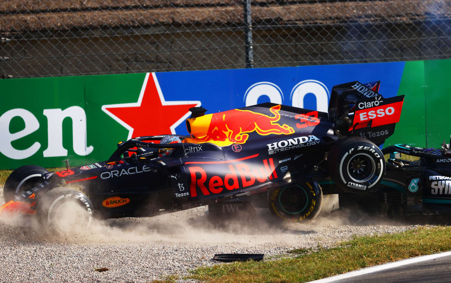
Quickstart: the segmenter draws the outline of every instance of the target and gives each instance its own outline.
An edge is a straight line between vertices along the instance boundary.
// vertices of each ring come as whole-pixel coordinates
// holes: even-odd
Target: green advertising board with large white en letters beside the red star
[[[144,76],[1,80],[0,168],[64,166],[67,158],[72,165],[104,160],[127,130],[101,106],[136,101]]]

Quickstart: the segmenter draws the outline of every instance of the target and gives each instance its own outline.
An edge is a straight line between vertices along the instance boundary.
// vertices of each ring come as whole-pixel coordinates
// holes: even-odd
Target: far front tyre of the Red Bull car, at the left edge
[[[37,165],[25,165],[14,170],[3,187],[3,198],[5,202],[14,199],[14,195],[27,188],[44,181],[44,174],[49,172],[46,168]]]

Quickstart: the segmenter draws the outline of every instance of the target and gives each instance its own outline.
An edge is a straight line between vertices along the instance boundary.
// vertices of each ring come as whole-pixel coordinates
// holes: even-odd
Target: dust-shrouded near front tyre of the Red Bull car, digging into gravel
[[[56,235],[83,233],[92,222],[92,203],[78,190],[68,187],[49,190],[38,205],[41,224]]]

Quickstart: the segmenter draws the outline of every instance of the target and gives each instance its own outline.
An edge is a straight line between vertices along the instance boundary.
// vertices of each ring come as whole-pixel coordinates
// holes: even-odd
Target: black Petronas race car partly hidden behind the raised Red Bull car
[[[390,153],[390,158],[380,185],[368,195],[341,194],[340,207],[357,205],[382,216],[451,213],[450,144],[443,141],[441,148],[396,144],[382,153]],[[418,160],[400,159],[400,153]],[[322,187],[333,187],[331,181],[322,182]]]

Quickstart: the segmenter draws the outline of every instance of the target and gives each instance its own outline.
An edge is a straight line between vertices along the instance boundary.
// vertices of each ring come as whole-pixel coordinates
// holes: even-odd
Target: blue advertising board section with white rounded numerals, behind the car
[[[396,96],[405,62],[156,73],[166,100],[198,100],[207,113],[262,102],[327,112],[334,85],[381,80],[379,93]],[[185,125],[176,128],[186,134]]]

